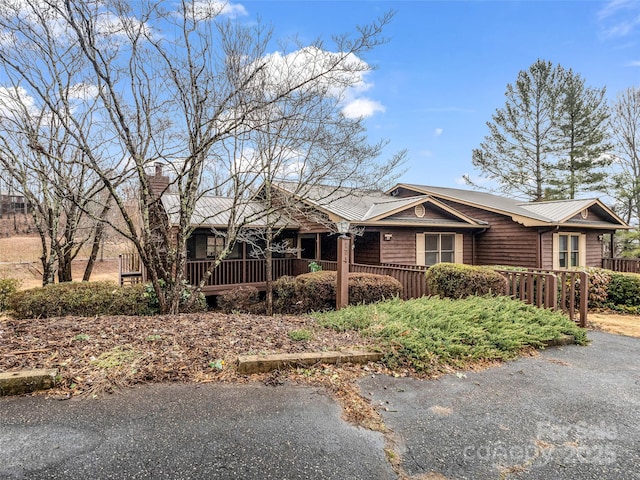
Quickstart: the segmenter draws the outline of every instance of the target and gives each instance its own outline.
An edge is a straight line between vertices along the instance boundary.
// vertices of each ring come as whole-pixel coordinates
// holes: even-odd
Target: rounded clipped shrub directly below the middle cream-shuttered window
[[[432,295],[466,298],[472,295],[506,295],[507,279],[491,267],[438,263],[426,273]]]

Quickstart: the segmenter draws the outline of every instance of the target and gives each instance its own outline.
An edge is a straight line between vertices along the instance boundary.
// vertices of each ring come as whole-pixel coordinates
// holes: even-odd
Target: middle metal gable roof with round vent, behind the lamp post
[[[279,183],[280,190],[297,197],[301,202],[316,207],[333,221],[348,220],[357,225],[436,225],[478,228],[486,222],[474,220],[428,195],[398,198],[382,190],[314,185],[303,194],[292,192],[296,184]],[[294,188],[292,188],[294,187]],[[432,204],[448,214],[449,218],[389,218],[391,215],[424,203]]]

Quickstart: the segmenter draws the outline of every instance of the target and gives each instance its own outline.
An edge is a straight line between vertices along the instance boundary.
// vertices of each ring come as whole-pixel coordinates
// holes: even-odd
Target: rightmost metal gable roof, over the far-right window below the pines
[[[629,226],[618,217],[609,207],[599,199],[555,200],[547,202],[522,202],[512,198],[502,197],[475,190],[463,190],[449,187],[432,187],[415,184],[398,184],[397,188],[433,195],[437,198],[450,200],[463,205],[469,205],[502,215],[510,216],[515,222],[525,226],[559,226],[580,224],[586,227],[623,229]],[[603,218],[602,221],[577,220],[576,215],[585,209],[592,209]]]

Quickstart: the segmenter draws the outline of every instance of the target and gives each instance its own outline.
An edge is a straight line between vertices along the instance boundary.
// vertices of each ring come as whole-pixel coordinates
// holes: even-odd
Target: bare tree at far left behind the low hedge
[[[85,211],[102,183],[77,160],[82,152],[56,117],[34,105],[21,87],[0,89],[0,119],[0,165],[31,205],[41,243],[42,283],[53,283],[56,272],[58,281],[71,281],[71,263],[80,249],[91,238],[100,241],[100,222]],[[91,268],[90,260],[85,279]]]

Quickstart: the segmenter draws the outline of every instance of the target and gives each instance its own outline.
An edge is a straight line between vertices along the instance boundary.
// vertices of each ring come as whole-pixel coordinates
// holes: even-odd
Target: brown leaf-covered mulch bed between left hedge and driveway
[[[289,332],[312,338],[294,341]],[[0,319],[0,371],[57,368],[58,394],[110,392],[146,382],[243,381],[242,354],[296,353],[365,347],[356,332],[338,333],[305,316],[203,314],[154,317]],[[263,375],[275,382],[276,374]]]

